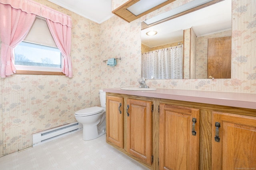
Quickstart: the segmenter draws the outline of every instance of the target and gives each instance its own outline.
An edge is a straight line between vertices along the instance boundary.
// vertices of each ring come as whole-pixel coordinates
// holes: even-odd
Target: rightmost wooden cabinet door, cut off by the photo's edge
[[[213,112],[212,170],[256,169],[256,117]]]

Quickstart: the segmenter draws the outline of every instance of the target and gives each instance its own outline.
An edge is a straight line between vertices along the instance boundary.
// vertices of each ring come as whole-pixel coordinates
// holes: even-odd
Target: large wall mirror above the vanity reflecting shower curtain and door
[[[161,62],[169,62],[165,65],[153,64],[148,67],[148,63],[142,62],[142,73],[147,65],[147,69],[157,69],[157,74],[159,74],[159,76],[148,76],[143,73],[142,76],[145,76],[146,79],[231,78],[231,10],[231,0],[213,0],[208,4],[203,4],[200,9],[189,10],[188,14],[160,21],[157,24],[154,21],[152,26],[143,22],[141,31],[142,60],[143,54],[150,53],[152,57],[152,53],[156,51],[163,49],[166,51],[166,49],[178,47],[182,48],[181,55],[183,57],[181,60],[175,61],[178,64],[173,64],[173,61],[165,58],[156,59]],[[150,36],[146,34],[148,31],[157,33]],[[160,55],[163,56],[166,53],[161,52]],[[145,58],[145,56],[144,59],[147,60],[146,62],[154,60]],[[179,64],[180,66],[178,66]],[[156,65],[157,67],[155,67]],[[174,68],[174,65],[178,67]],[[174,71],[175,74],[180,75],[166,77],[169,75],[169,70],[166,71],[166,68],[169,67],[174,68],[170,69],[170,72]],[[217,71],[212,72],[212,70]],[[218,73],[221,75],[217,75]]]

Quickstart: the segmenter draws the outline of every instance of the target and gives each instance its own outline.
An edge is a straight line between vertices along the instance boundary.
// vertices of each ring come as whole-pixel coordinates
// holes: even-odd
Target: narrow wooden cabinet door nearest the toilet
[[[123,98],[107,96],[106,100],[106,140],[123,148]]]

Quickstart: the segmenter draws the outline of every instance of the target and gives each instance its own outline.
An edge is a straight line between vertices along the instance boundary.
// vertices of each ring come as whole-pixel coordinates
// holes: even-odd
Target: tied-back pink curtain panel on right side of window
[[[64,59],[63,59],[63,69],[62,72],[68,77],[73,77],[72,63],[70,58],[71,53],[71,27],[68,25],[62,25],[61,23],[51,21],[46,19],[47,24],[52,33],[54,41],[60,49]]]

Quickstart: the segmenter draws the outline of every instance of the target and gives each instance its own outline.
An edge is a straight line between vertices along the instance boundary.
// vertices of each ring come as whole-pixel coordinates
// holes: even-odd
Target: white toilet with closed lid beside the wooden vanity
[[[89,107],[75,112],[76,120],[83,124],[83,140],[96,139],[106,133],[106,92],[100,90],[101,107]]]

